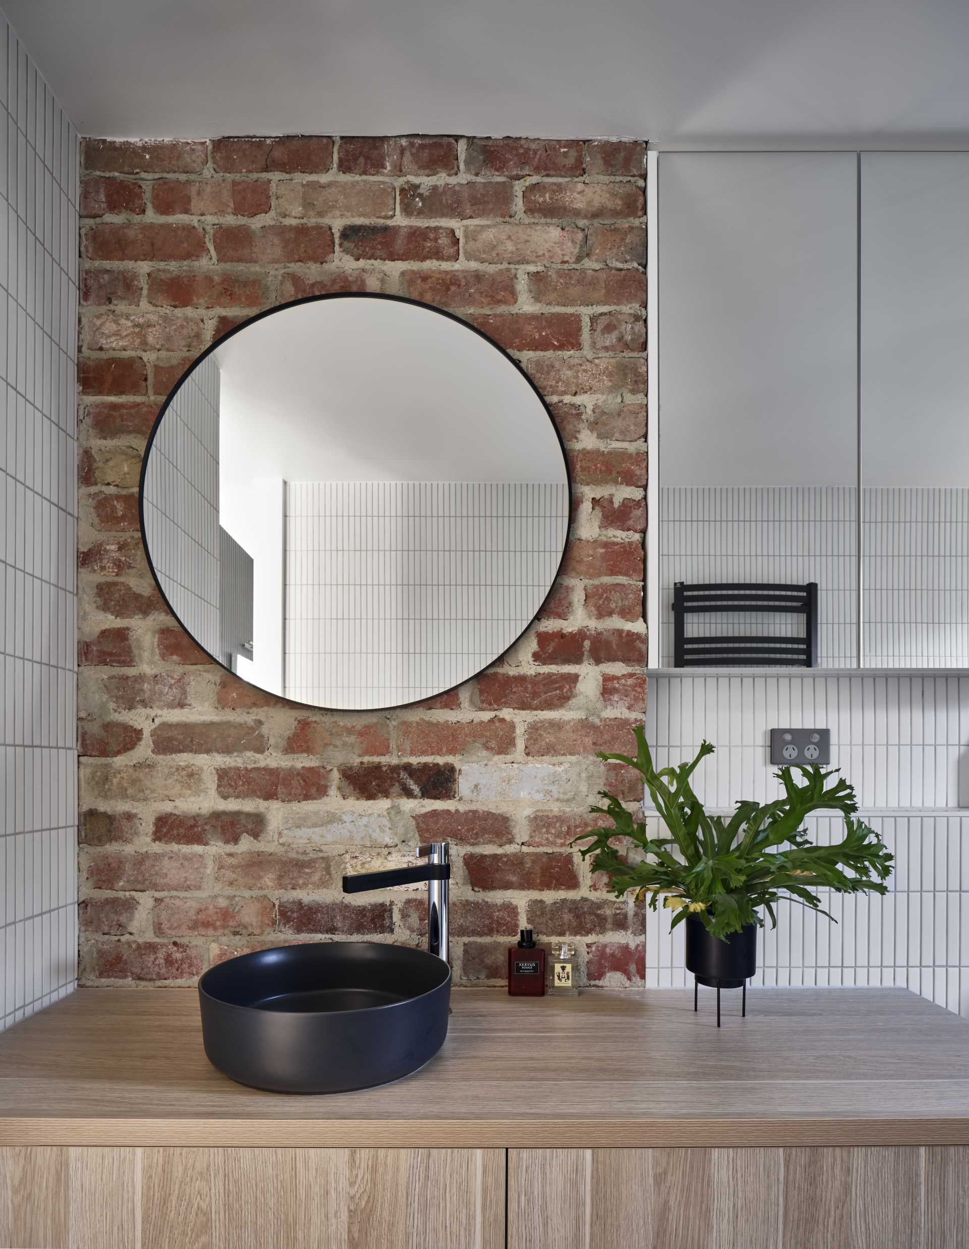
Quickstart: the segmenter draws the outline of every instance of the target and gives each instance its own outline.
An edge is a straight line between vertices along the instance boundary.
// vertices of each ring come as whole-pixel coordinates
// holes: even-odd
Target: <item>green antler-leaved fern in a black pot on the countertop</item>
[[[599,753],[634,768],[649,791],[669,836],[649,837],[646,823],[603,789],[604,806],[593,814],[608,816],[612,828],[593,828],[577,837],[588,841],[583,858],[609,878],[617,898],[629,891],[637,903],[648,899],[656,911],[659,899],[674,911],[671,931],[687,924],[687,969],[699,984],[718,989],[745,989],[757,969],[757,929],[760,912],[777,927],[774,903],[780,897],[809,907],[829,919],[815,889],[837,893],[885,893],[882,883],[892,872],[892,856],[878,833],[855,818],[854,789],[835,772],[817,764],[782,767],[784,787],[774,802],[738,802],[729,817],[712,816],[691,787],[701,759],[713,754],[703,742],[697,757],[679,767],[653,767],[642,728],[636,728],[637,756]],[[800,782],[794,778],[800,773]],[[829,783],[830,782],[830,783]],[[844,819],[844,838],[833,846],[815,846],[805,834],[804,817],[815,811],[837,811]],[[627,842],[623,852],[613,844]],[[694,998],[696,1005],[696,998]]]

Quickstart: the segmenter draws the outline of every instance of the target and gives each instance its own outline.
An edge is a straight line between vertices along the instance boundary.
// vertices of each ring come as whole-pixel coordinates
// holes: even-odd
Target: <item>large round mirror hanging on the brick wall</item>
[[[245,681],[333,709],[433,697],[552,588],[569,480],[518,365],[447,312],[328,295],[265,312],[169,396],[141,530],[169,607]]]

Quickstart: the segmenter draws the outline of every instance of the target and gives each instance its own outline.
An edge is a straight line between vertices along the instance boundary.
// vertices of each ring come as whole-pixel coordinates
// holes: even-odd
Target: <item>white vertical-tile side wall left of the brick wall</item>
[[[77,978],[77,192],[0,15],[0,1028]]]

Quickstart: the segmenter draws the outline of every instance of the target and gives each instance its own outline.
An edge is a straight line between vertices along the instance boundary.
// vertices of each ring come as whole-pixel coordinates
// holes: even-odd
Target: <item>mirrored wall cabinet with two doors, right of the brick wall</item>
[[[969,667],[969,154],[653,160],[649,666]]]

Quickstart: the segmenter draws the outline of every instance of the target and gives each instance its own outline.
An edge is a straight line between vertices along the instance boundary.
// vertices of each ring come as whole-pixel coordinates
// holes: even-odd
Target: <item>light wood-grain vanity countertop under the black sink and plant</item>
[[[235,1084],[194,989],[79,989],[0,1035],[0,1145],[632,1148],[969,1144],[969,1023],[907,989],[456,989],[395,1084]]]

